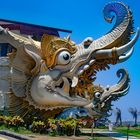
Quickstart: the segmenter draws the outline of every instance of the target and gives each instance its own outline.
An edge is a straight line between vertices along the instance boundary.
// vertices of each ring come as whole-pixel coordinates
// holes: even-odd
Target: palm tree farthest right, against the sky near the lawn
[[[136,108],[129,108],[129,113],[131,113],[133,119],[134,119],[134,126],[137,126],[137,119],[138,119],[138,115],[140,114],[140,112],[138,112],[138,110]]]

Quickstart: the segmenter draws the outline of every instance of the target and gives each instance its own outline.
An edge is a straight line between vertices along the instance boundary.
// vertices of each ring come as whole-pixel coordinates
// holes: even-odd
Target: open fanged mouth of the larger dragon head
[[[59,95],[64,96],[71,101],[79,99],[91,103],[94,97],[93,81],[96,79],[97,71],[92,69],[94,60],[77,64],[73,76],[66,77],[65,74],[62,78],[55,83],[55,89]],[[69,75],[69,74],[67,74]]]

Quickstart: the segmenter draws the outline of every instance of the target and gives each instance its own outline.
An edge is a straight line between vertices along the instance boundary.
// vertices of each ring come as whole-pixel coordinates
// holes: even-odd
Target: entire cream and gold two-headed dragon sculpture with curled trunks
[[[113,100],[129,90],[129,76],[120,69],[120,81],[104,88],[94,85],[96,73],[110,64],[126,61],[133,53],[139,29],[133,31],[132,13],[128,6],[112,2],[105,6],[104,18],[113,28],[97,40],[86,38],[76,45],[70,37],[44,34],[41,42],[0,28],[0,40],[15,49],[9,54],[11,93],[9,111],[23,117],[38,114],[55,117],[66,108],[82,107],[90,115],[104,115]],[[130,40],[131,34],[134,37]]]

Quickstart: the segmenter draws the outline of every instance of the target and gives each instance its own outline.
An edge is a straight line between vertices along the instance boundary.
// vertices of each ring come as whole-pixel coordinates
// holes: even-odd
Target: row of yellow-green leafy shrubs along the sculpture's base
[[[20,116],[0,116],[0,125],[5,125],[7,128],[13,128],[15,131],[19,130],[19,127],[26,126],[34,133],[47,133],[49,135],[78,135],[80,133],[79,127],[82,125],[82,121],[73,118],[67,119],[48,119],[47,123],[38,120],[38,118],[29,118],[28,121],[24,121]],[[28,127],[30,126],[30,127]]]

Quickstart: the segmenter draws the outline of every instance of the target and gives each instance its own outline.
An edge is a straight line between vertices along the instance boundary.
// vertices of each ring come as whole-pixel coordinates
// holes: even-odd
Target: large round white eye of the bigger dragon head
[[[70,62],[71,55],[68,51],[62,51],[58,55],[58,63],[59,64],[68,64]]]

